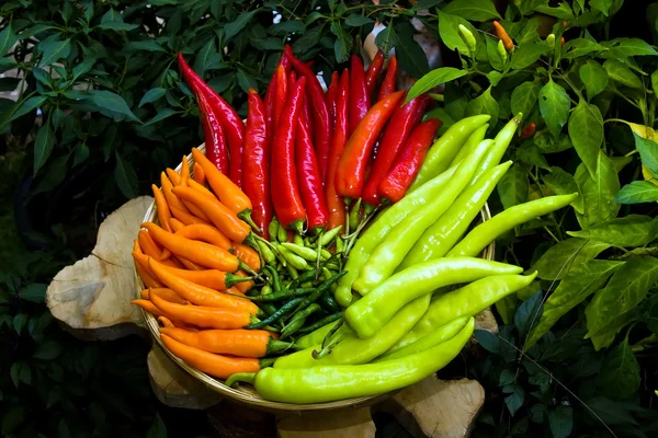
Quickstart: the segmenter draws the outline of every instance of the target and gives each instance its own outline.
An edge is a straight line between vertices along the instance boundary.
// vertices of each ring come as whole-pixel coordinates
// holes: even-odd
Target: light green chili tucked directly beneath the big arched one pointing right
[[[529,286],[536,275],[536,270],[531,275],[492,275],[440,295],[405,338],[421,339],[455,318],[474,316],[508,295]]]

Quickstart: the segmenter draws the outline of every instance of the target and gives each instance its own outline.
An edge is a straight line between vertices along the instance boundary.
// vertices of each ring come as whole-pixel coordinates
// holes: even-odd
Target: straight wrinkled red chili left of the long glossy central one
[[[272,220],[270,193],[270,157],[268,157],[268,125],[263,101],[253,89],[248,93],[247,131],[245,135],[245,174],[242,188],[251,199],[251,219],[269,239],[268,227]]]

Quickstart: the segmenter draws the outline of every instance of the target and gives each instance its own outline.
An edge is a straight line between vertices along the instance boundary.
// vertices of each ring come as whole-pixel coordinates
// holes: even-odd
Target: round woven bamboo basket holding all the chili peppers
[[[201,145],[198,147],[198,149],[205,153],[205,143]],[[194,164],[194,159],[192,158],[192,153],[190,153],[188,155],[188,160],[190,162],[190,166],[192,166]],[[180,172],[181,166],[182,166],[182,162],[175,168],[175,171]],[[193,175],[192,169],[190,169],[190,173],[191,173],[191,175]],[[485,207],[480,210],[480,219],[483,221],[491,219],[491,212],[489,211],[489,206],[487,204],[485,204]],[[156,223],[158,222],[155,200],[150,205],[148,210],[146,210],[143,221],[144,222],[156,222]],[[489,246],[487,246],[483,251],[483,254],[480,256],[483,258],[494,260],[494,255],[495,255],[495,244],[491,243]],[[137,295],[137,299],[139,299],[140,298],[139,292],[145,288],[145,286],[144,286],[144,283],[141,281],[141,278],[139,278],[139,274],[137,274],[137,269],[134,269],[134,276],[135,276],[135,285],[136,285],[136,295]],[[238,389],[227,387],[226,384],[224,384],[224,381],[216,379],[214,377],[211,377],[211,376],[206,374],[205,372],[202,372],[202,371],[197,370],[196,368],[191,367],[183,360],[179,359],[164,346],[164,344],[160,339],[160,335],[159,335],[160,332],[159,332],[159,325],[158,325],[157,319],[152,314],[145,311],[144,309],[141,310],[141,312],[144,314],[144,320],[146,322],[146,326],[148,327],[148,331],[149,331],[152,339],[160,346],[160,348],[167,354],[167,356],[169,356],[169,358],[174,364],[177,364],[179,367],[181,367],[183,370],[185,370],[188,373],[190,373],[196,380],[198,380],[200,382],[205,384],[211,390],[219,393],[220,395],[231,399],[232,401],[236,401],[238,403],[242,403],[242,404],[247,404],[249,406],[257,407],[261,411],[276,413],[276,412],[302,412],[302,411],[334,411],[334,410],[344,410],[344,408],[351,408],[351,407],[361,407],[361,406],[375,404],[384,399],[387,399],[388,396],[390,396],[397,392],[397,391],[393,391],[393,392],[389,392],[386,394],[345,399],[345,400],[339,400],[336,402],[327,402],[327,403],[293,404],[293,403],[271,402],[271,401],[262,399],[251,387],[240,385],[240,388],[238,388]]]

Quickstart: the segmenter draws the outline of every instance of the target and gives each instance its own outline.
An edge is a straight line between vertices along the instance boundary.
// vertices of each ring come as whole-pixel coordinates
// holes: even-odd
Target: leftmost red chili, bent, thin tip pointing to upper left
[[[198,97],[203,93],[207,99],[211,107],[215,110],[222,128],[226,132],[228,141],[229,160],[230,160],[230,180],[240,186],[242,184],[242,139],[245,138],[245,124],[238,116],[238,113],[207,83],[201,79],[198,74],[185,62],[182,54],[178,55],[179,65],[185,81],[192,87],[192,91]]]

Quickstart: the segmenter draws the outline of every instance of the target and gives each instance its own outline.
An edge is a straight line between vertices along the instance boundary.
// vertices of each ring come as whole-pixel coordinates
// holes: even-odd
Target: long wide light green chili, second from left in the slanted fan
[[[365,295],[395,272],[422,233],[450,208],[466,187],[478,163],[492,142],[492,140],[480,141],[475,150],[457,165],[454,176],[445,185],[443,192],[428,205],[416,211],[410,211],[377,245],[361,269],[359,277],[354,280],[353,289],[361,295]]]

